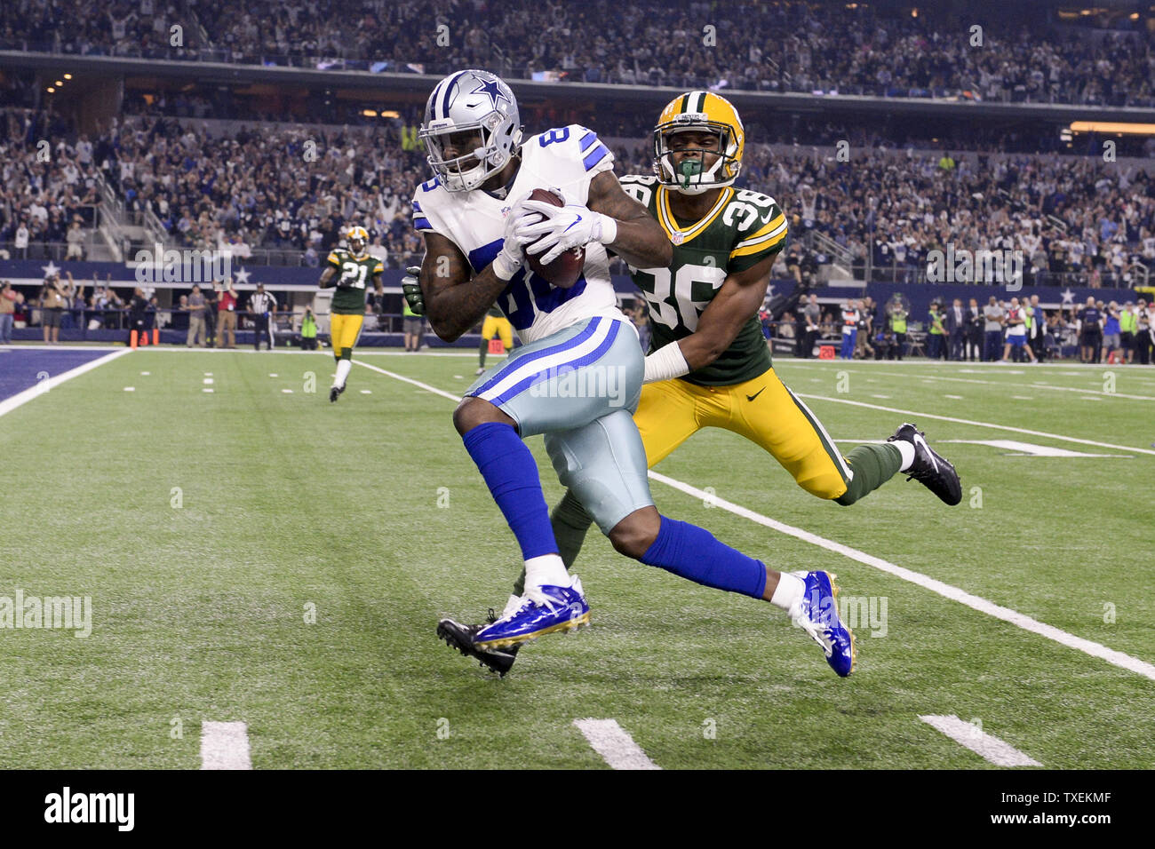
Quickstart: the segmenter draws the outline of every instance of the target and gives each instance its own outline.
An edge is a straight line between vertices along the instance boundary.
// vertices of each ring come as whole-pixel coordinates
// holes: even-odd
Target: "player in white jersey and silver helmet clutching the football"
[[[798,624],[822,646],[830,666],[849,675],[852,635],[836,609],[822,603],[828,599],[785,598],[790,594],[776,593],[778,572],[654,506],[632,417],[644,358],[632,323],[617,308],[606,248],[653,268],[670,263],[672,247],[646,208],[623,192],[609,149],[579,125],[522,141],[513,92],[484,70],[462,70],[438,83],[420,135],[437,174],[412,203],[413,224],[425,237],[424,312],[439,337],[454,341],[495,301],[524,343],[483,374],[454,412],[454,425],[521,546],[524,594],[484,627],[445,619],[439,635],[480,657],[589,621],[581,582],[558,553],[537,464],[522,441],[544,433],[561,483],[614,549],[705,586],[785,610],[800,606]],[[535,188],[557,189],[565,206],[529,200]],[[547,265],[580,246],[586,263],[572,288],[552,286],[526,266],[526,250]]]

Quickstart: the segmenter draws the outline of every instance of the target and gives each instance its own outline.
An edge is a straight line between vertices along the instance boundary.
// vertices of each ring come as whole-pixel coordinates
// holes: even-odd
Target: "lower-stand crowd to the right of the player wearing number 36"
[[[754,186],[787,201],[797,239],[817,230],[892,282],[921,280],[932,251],[1021,252],[1027,283],[1137,282],[1155,268],[1155,180],[1101,159],[870,150],[836,162],[755,150]],[[1142,266],[1137,268],[1135,266]],[[949,282],[949,281],[940,281]],[[956,282],[994,282],[968,281]]]

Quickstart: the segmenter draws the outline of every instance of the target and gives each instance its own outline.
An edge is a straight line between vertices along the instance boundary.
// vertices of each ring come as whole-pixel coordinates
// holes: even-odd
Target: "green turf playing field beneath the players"
[[[476,368],[358,359],[454,395]],[[856,673],[770,605],[627,560],[595,529],[576,568],[593,626],[527,647],[500,680],[434,636],[442,616],[500,609],[520,568],[450,400],[355,366],[330,404],[325,355],[143,350],[0,416],[21,449],[0,486],[0,596],[92,605],[87,639],[0,630],[0,767],[198,768],[204,721],[246,723],[255,769],[605,767],[573,725],[593,717],[662,768],[994,768],[922,715],[977,721],[1045,767],[1155,767],[1155,368],[778,370],[845,450],[917,423],[963,502],[902,478],[819,501],[721,431],[655,471],[1117,663],[655,482],[668,515],[777,568],[836,572],[875,613]]]

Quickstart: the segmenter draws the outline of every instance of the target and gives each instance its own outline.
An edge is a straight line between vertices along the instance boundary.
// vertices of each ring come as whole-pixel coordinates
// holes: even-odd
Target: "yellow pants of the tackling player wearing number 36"
[[[634,422],[653,468],[702,427],[723,427],[761,446],[806,492],[835,499],[850,469],[818,418],[774,373],[733,386],[663,380],[642,387]]]

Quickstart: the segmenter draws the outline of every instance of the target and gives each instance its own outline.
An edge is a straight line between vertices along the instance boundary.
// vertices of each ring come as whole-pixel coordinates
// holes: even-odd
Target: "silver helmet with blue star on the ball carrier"
[[[457,134],[477,134],[479,147],[463,155]],[[449,136],[455,136],[450,146]],[[459,70],[437,84],[425,104],[420,137],[429,163],[449,192],[469,192],[495,174],[521,144],[521,116],[509,87],[487,70]],[[453,147],[459,154],[446,158]]]

